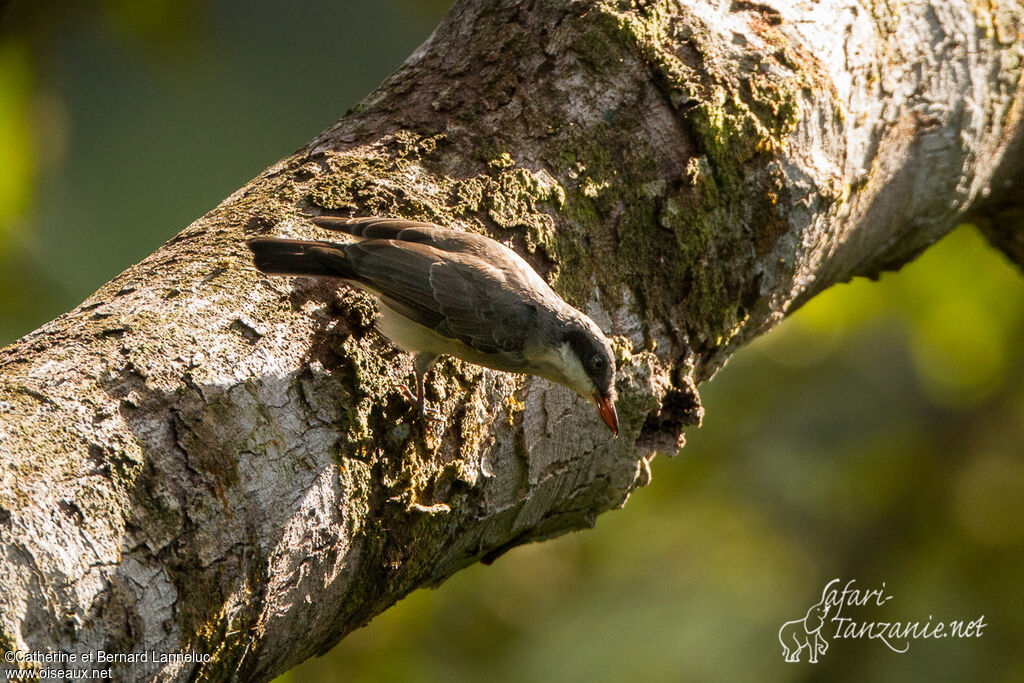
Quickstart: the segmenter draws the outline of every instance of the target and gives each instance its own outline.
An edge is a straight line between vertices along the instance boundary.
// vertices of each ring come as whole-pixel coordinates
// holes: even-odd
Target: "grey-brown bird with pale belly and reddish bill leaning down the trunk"
[[[271,275],[328,278],[374,295],[377,330],[415,354],[417,396],[441,354],[537,375],[594,403],[618,435],[615,358],[588,315],[566,303],[521,256],[475,232],[380,217],[310,217],[345,243],[258,237],[246,244]]]

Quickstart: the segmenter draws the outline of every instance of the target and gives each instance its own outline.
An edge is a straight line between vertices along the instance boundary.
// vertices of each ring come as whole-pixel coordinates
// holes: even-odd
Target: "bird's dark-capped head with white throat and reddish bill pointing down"
[[[615,415],[615,356],[601,329],[589,317],[573,321],[562,345],[566,382],[572,390],[597,405],[604,424],[618,435]]]

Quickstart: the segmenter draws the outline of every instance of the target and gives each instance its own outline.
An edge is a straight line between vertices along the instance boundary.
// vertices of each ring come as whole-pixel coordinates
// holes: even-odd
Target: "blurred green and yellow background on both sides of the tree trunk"
[[[447,4],[0,3],[0,343],[326,128]],[[739,352],[625,510],[419,591],[280,681],[1024,680],[1022,340],[1024,279],[962,226]],[[849,616],[988,626],[784,664],[779,627],[834,578],[893,596]]]

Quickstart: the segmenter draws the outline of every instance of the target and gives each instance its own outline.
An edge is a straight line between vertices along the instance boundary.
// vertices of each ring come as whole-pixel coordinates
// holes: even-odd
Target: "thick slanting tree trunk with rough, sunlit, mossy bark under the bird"
[[[1016,215],[991,233],[1020,254],[1020,17],[458,2],[307,147],[0,351],[0,646],[197,651],[115,675],[266,680],[593,524],[680,447],[695,384],[810,296],[967,215]],[[425,428],[369,299],[251,265],[246,238],[312,238],[318,212],[520,251],[615,336],[622,435],[567,389],[452,359]]]

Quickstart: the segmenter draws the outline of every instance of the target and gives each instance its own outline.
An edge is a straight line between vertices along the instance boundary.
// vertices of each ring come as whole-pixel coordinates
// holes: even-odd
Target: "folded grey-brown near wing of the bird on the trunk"
[[[346,245],[355,279],[414,322],[484,353],[522,350],[538,305],[488,263],[428,245]]]

